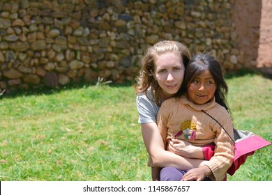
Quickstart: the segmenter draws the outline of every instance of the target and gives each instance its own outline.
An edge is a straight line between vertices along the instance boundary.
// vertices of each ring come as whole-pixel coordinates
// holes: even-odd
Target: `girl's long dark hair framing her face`
[[[216,82],[216,92],[214,94],[216,102],[230,112],[227,105],[228,86],[223,77],[221,65],[214,56],[209,54],[197,54],[189,61],[186,67],[183,84],[179,91],[179,96],[183,93],[187,93],[188,86],[191,84],[192,80],[206,70],[211,72],[211,75],[213,75],[213,79]]]

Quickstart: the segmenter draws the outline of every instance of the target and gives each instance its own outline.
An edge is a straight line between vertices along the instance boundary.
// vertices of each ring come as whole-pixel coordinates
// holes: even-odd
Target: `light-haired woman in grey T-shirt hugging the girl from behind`
[[[190,52],[186,46],[180,42],[165,40],[149,47],[141,61],[135,90],[137,91],[139,123],[141,123],[142,137],[149,153],[149,166],[152,167],[153,180],[159,180],[158,167],[173,166],[186,170],[206,164],[203,160],[202,148],[192,146],[190,143],[179,143],[174,139],[170,141],[168,150],[173,152],[179,148],[179,155],[182,157],[165,150],[156,123],[160,104],[179,92],[189,60]],[[183,148],[186,148],[184,150],[186,152],[181,154]],[[191,159],[192,157],[195,159]]]

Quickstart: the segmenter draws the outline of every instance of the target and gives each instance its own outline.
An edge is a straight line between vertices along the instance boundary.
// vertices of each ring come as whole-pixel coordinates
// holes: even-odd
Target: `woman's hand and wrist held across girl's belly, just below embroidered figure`
[[[192,143],[181,139],[171,139],[168,150],[183,157],[204,159],[202,147],[193,146]]]

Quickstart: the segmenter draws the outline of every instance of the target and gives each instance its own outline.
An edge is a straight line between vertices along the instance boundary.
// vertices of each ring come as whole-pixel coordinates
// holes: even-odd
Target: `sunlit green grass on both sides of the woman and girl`
[[[234,126],[271,142],[271,79],[227,83]],[[19,91],[0,107],[0,180],[151,180],[129,84]],[[268,146],[228,180],[272,180],[271,171]]]

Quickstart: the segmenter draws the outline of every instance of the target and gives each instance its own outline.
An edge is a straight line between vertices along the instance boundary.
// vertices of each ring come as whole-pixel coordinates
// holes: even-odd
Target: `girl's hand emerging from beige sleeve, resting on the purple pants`
[[[201,166],[195,169],[191,169],[190,171],[185,173],[181,181],[201,181],[204,180],[204,178],[206,178],[207,176],[210,176],[211,173],[211,169],[208,166]]]

